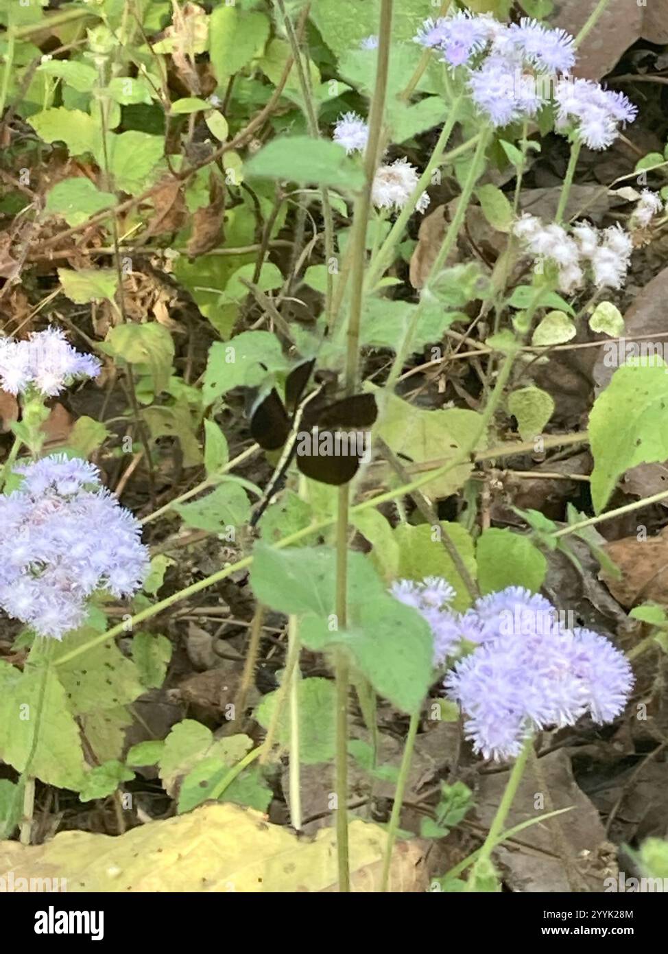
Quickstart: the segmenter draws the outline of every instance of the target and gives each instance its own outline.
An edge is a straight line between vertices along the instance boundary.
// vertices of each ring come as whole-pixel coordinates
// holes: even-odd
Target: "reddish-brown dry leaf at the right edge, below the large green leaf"
[[[601,579],[625,609],[648,600],[668,606],[668,527],[647,540],[614,540],[603,550],[621,570],[621,578],[601,572]]]

